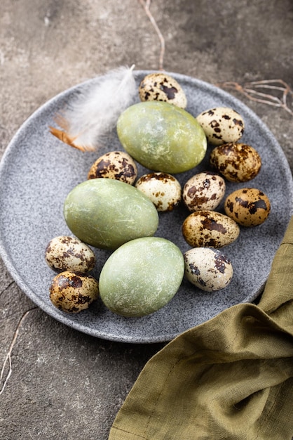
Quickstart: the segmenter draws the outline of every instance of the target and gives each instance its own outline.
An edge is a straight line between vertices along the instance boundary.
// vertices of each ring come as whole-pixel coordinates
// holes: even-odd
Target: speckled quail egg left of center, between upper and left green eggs
[[[137,178],[137,164],[124,151],[110,151],[99,157],[88,172],[88,179],[116,179],[132,185]]]

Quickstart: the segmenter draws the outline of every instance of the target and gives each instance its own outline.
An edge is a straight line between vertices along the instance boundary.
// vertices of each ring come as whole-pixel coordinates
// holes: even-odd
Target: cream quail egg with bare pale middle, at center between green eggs
[[[172,211],[182,198],[182,188],[174,176],[163,172],[154,172],[141,176],[135,186],[154,203],[161,212]]]

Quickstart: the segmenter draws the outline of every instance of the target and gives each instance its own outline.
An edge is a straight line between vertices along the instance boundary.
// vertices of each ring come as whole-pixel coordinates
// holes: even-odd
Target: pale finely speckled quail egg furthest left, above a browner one
[[[95,254],[78,238],[60,235],[48,242],[45,259],[54,271],[89,272],[95,267]]]

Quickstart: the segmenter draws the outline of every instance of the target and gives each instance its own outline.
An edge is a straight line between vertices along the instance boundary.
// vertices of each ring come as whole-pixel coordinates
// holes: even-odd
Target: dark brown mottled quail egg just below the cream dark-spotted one
[[[259,174],[261,157],[245,143],[224,143],[210,153],[210,164],[230,182],[247,182]]]

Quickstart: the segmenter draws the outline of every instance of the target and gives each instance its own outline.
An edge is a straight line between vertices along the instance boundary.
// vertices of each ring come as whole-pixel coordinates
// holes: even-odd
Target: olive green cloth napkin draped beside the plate
[[[109,440],[291,440],[293,217],[258,305],[238,304],[145,365]]]

